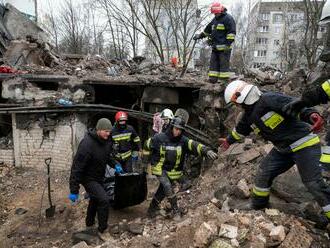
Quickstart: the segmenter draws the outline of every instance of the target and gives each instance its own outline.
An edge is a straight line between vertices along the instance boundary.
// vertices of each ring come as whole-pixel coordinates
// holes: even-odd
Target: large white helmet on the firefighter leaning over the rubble
[[[261,91],[257,86],[248,84],[242,80],[235,80],[228,84],[225,89],[226,103],[239,103],[252,105],[259,100]]]

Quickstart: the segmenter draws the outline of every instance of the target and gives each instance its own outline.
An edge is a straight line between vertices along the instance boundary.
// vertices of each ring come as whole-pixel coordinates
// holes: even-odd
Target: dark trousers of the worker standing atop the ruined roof
[[[228,79],[230,77],[230,55],[231,49],[225,51],[212,50],[209,68],[209,80],[216,83],[218,79]]]

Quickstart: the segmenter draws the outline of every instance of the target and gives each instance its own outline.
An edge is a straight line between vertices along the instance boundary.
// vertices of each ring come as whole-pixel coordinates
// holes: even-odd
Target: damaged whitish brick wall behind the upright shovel
[[[38,120],[33,120],[38,118]],[[45,159],[52,158],[52,169],[68,170],[86,125],[77,115],[56,115],[56,122],[42,121],[40,116],[30,117],[26,126],[25,118],[13,116],[15,164],[21,167],[45,168]],[[58,120],[58,121],[57,121]],[[23,126],[22,126],[23,125]]]

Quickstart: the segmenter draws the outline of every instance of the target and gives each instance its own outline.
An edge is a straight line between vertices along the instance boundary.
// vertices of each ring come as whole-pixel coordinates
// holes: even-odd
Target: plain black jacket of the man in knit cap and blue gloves
[[[70,192],[79,193],[79,184],[90,181],[103,183],[106,165],[114,167],[110,139],[99,138],[95,129],[90,129],[81,140],[73,159],[70,175]]]

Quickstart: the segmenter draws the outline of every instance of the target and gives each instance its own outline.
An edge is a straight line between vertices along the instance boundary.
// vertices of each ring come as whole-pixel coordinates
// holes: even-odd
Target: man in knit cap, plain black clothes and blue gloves
[[[78,201],[79,185],[82,184],[90,197],[86,226],[94,226],[97,214],[98,235],[103,241],[111,239],[107,229],[110,199],[103,187],[106,165],[120,167],[111,156],[111,128],[110,120],[102,118],[98,120],[96,129],[88,130],[79,144],[70,175],[69,199],[73,203]]]

